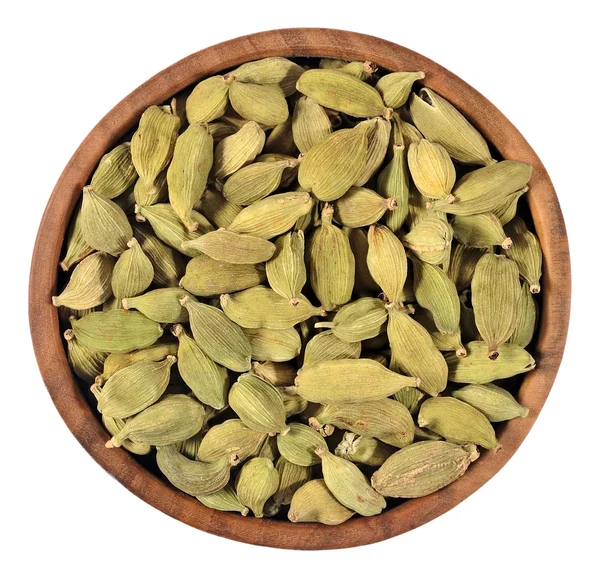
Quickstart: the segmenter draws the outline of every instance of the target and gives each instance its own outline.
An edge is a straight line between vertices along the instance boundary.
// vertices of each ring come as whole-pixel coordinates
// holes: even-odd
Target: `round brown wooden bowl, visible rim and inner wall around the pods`
[[[407,500],[379,516],[355,517],[340,526],[217,512],[153,475],[124,449],[106,449],[109,437],[73,377],[58,312],[50,300],[56,294],[59,254],[71,212],[100,157],[137,123],[148,106],[208,75],[271,56],[364,60],[392,71],[424,71],[427,86],[458,107],[503,158],[533,165],[527,201],[544,266],[540,328],[533,352],[537,368],[525,376],[518,393],[529,416],[500,425],[502,450],[483,451],[450,486],[425,498]],[[173,518],[212,534],[272,547],[331,549],[377,542],[420,526],[450,510],[500,470],[529,432],[552,387],[567,336],[570,285],[567,235],[550,178],[527,141],[487,99],[437,63],[382,39],[339,30],[285,29],[241,37],[186,57],[127,96],[90,132],[63,171],[42,218],[31,265],[29,318],[39,368],[56,408],[83,447],[126,488]]]

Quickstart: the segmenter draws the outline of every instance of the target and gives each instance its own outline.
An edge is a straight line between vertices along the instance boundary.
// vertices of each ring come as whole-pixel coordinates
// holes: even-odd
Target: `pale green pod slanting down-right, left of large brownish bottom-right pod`
[[[336,457],[323,447],[318,447],[316,453],[321,457],[325,484],[341,504],[362,516],[381,513],[386,506],[385,499],[370,486],[354,463]]]

